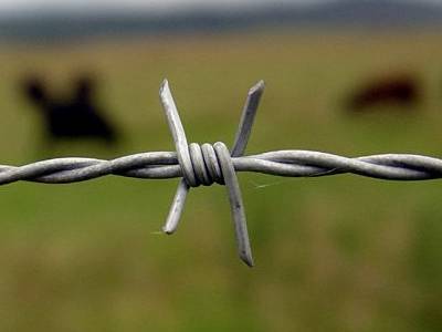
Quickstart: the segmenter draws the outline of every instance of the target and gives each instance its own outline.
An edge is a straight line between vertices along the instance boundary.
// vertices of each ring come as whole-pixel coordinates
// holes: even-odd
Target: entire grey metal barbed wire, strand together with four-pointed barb
[[[240,258],[253,266],[244,205],[236,172],[256,172],[288,177],[318,177],[344,173],[389,180],[423,180],[442,177],[442,159],[411,155],[381,154],[344,157],[314,151],[275,151],[243,156],[251,134],[264,82],[248,94],[234,144],[229,152],[224,143],[188,144],[167,80],[160,100],[177,152],[147,152],[112,160],[96,158],[54,158],[23,166],[0,165],[0,185],[19,180],[44,184],[84,181],[106,175],[164,179],[180,177],[177,193],[162,230],[172,234],[182,215],[190,187],[213,183],[228,188]]]

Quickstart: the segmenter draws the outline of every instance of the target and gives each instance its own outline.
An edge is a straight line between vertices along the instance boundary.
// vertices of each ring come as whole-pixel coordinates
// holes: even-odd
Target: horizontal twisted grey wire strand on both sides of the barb
[[[442,178],[442,159],[411,154],[344,157],[314,151],[275,151],[232,157],[235,172],[254,172],[286,177],[317,177],[356,174],[389,180]],[[14,181],[70,184],[107,175],[141,179],[182,177],[175,152],[149,152],[104,160],[54,158],[23,166],[0,165],[0,185]]]

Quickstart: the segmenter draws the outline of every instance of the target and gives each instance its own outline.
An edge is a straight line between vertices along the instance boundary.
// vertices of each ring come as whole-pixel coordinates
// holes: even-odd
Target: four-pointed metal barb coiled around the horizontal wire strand
[[[182,172],[182,179],[178,185],[162,230],[166,234],[172,234],[177,229],[190,187],[198,187],[200,184],[209,186],[213,181],[225,185],[234,222],[238,252],[240,258],[250,267],[253,266],[252,249],[240,185],[231,156],[238,157],[244,154],[263,91],[263,81],[249,91],[232,153],[229,153],[228,147],[222,142],[218,142],[213,146],[203,144],[201,147],[196,143],[189,146],[167,80],[162,82],[159,92]]]

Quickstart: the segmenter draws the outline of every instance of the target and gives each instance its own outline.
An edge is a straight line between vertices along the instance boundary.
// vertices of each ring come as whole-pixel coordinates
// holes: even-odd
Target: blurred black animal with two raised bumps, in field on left
[[[95,83],[87,75],[74,82],[74,93],[67,98],[54,98],[45,82],[32,76],[22,82],[22,92],[44,116],[49,138],[98,138],[114,143],[114,127],[101,114],[94,100]]]

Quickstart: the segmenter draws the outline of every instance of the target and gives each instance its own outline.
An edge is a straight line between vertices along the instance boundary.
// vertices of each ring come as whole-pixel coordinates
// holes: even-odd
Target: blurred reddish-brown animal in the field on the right
[[[419,98],[418,80],[411,74],[394,74],[379,77],[357,89],[347,101],[347,108],[362,112],[382,105],[397,105],[410,110]]]

